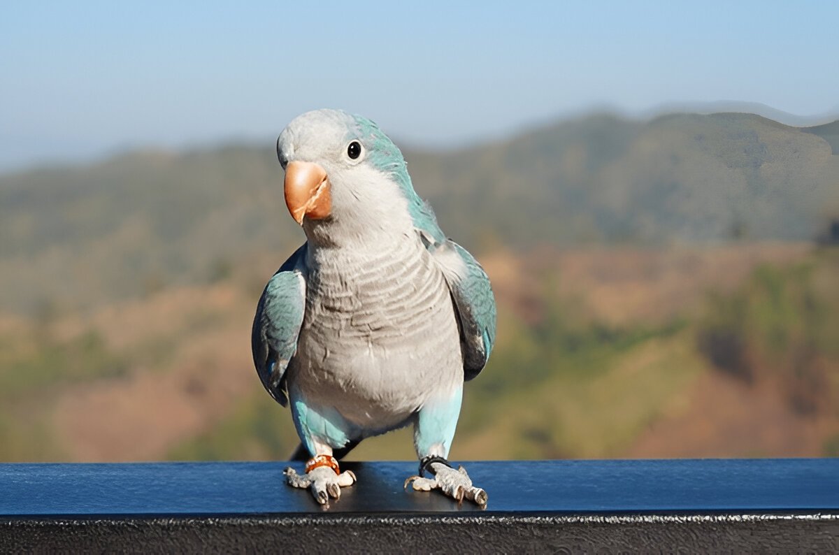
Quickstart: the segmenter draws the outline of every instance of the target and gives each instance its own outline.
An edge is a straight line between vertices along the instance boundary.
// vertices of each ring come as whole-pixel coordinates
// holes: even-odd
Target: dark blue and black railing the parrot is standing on
[[[485,510],[345,463],[324,510],[285,463],[0,464],[0,549],[836,552],[839,459],[472,462]]]

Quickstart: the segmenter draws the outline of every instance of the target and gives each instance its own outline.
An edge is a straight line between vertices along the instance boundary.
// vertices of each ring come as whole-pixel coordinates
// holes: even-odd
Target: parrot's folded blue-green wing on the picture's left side
[[[304,244],[268,280],[251,332],[253,364],[259,379],[284,407],[289,402],[285,369],[297,350],[306,308],[305,254]]]

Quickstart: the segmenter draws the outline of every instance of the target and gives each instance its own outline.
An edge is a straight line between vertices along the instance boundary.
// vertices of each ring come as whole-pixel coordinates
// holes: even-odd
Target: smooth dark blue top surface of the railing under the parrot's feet
[[[0,516],[200,516],[322,511],[284,484],[288,463],[0,464]],[[299,467],[300,464],[295,464]],[[344,463],[358,483],[331,512],[477,511],[403,490],[409,462]],[[666,513],[839,509],[839,459],[467,463],[487,512]]]

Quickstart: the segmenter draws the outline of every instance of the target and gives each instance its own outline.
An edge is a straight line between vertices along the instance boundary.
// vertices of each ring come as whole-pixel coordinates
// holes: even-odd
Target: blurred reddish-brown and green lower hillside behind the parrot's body
[[[452,456],[835,454],[836,254],[742,243],[482,257],[498,344],[466,386]],[[254,274],[269,271],[265,258]],[[251,282],[242,268],[92,314],[0,314],[0,459],[287,457],[298,442],[289,412],[250,360]],[[715,366],[706,338],[721,330],[748,371]],[[779,336],[808,354],[802,364],[772,350]],[[402,430],[352,458],[411,459],[412,445]]]

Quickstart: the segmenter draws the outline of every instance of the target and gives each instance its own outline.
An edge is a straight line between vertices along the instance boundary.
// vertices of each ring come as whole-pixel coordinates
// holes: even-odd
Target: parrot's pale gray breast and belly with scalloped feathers
[[[316,252],[289,379],[307,401],[361,425],[393,424],[462,381],[456,317],[418,241],[375,252]],[[389,423],[389,424],[388,424]]]

